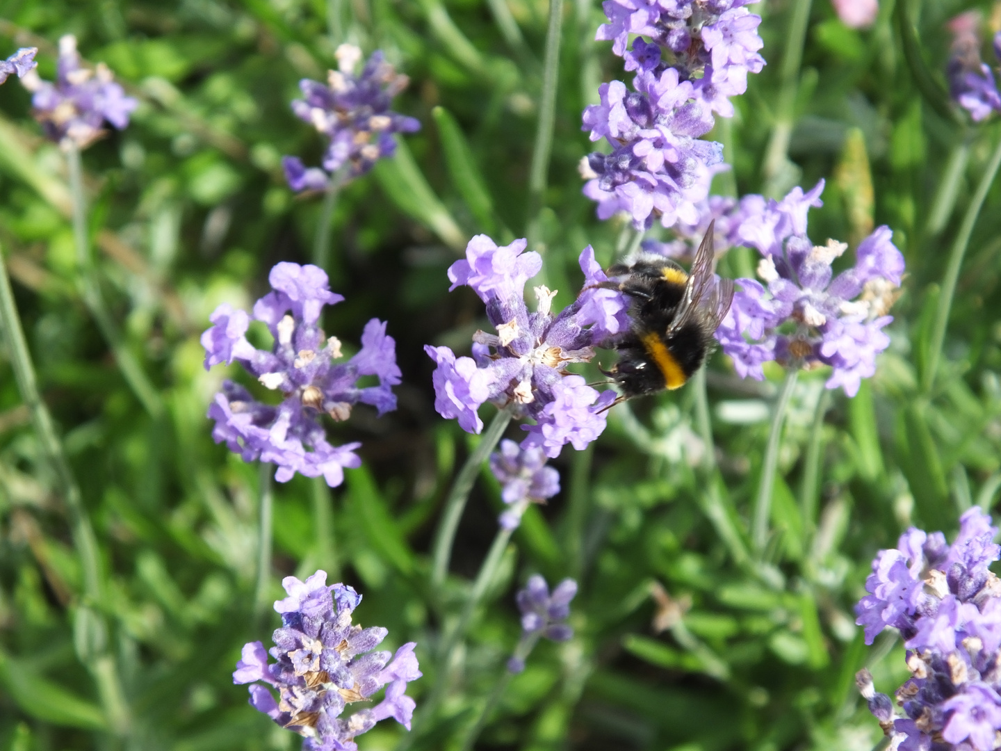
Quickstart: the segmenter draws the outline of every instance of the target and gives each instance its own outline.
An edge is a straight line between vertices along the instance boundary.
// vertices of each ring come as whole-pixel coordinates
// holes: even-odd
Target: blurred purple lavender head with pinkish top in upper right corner
[[[994,73],[980,58],[979,25],[980,14],[976,11],[962,13],[949,22],[953,40],[946,65],[949,93],[975,122],[1001,111]],[[1001,32],[994,37],[995,56],[1001,58],[997,52],[999,40]]]

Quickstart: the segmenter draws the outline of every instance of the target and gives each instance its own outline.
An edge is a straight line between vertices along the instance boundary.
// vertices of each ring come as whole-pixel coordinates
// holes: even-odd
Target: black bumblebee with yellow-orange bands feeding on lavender
[[[619,385],[620,401],[679,389],[702,366],[715,344],[713,334],[730,309],[732,279],[713,272],[713,228],[695,254],[691,272],[669,258],[643,253],[608,270],[604,282],[632,298],[630,332],[616,348],[619,361],[606,376]]]

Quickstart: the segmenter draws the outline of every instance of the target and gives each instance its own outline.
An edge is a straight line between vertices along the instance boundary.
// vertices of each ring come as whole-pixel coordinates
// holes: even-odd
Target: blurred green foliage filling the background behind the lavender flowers
[[[275,487],[266,594],[281,596],[282,576],[322,566],[364,594],[357,615],[387,627],[389,647],[417,641],[418,706],[435,680],[451,683],[415,748],[457,748],[518,639],[512,595],[535,572],[580,578],[578,636],[537,649],[477,748],[844,751],[879,741],[854,673],[869,666],[886,691],[906,669],[892,637],[867,648],[853,626],[870,561],[911,522],[953,532],[959,510],[989,507],[1001,487],[997,185],[961,268],[939,378],[921,387],[950,246],[999,138],[996,125],[969,126],[943,99],[944,23],[970,7],[996,16],[987,2],[882,0],[874,28],[857,32],[816,0],[802,64],[785,66],[793,98],[784,111],[786,44],[796,4],[807,1],[753,6],[765,19],[769,65],[713,134],[734,165],[715,190],[779,195],[826,177],[825,205],[811,213],[815,241],[856,243],[873,221],[889,224],[908,264],[890,350],[854,400],[836,393],[826,412],[817,410],[825,373],[801,376],[763,559],[749,554],[750,508],[782,373],[741,382],[714,358],[715,474],[696,466],[697,388],[616,410],[592,448],[568,449],[556,463],[563,493],[533,509],[515,536],[449,678],[435,675],[430,648],[468,589],[500,502],[483,474],[447,596],[432,598],[429,541],[474,439],[434,413],[421,346],[463,348],[481,325],[469,290],[447,292],[445,268],[466,239],[526,233],[549,6],[508,1],[519,43],[476,0],[331,0],[348,38],[385,50],[410,76],[394,109],[423,123],[395,159],[341,195],[328,268],[346,301],[327,313],[326,330],[356,344],[365,320],[387,319],[403,385],[396,413],[375,420],[359,408],[329,426],[337,443],[363,442],[364,466],[341,488],[327,494],[302,478]],[[537,225],[558,305],[579,288],[582,247],[592,243],[609,262],[629,239],[622,223],[597,221],[577,174],[591,149],[581,110],[601,81],[623,77],[621,61],[592,41],[603,20],[596,0],[564,10]],[[84,57],[106,62],[141,101],[127,130],[86,151],[84,167],[105,297],[163,404],[151,417],[135,399],[81,300],[65,163],[11,80],[0,88],[0,243],[43,397],[96,529],[105,597],[88,605],[108,628],[84,622],[93,611],[80,608],[64,499],[4,355],[2,749],[297,747],[231,683],[240,646],[266,642],[278,621],[253,613],[261,476],[210,439],[204,414],[225,373],[204,371],[198,335],[219,302],[248,307],[274,262],[310,258],[319,202],[287,189],[279,158],[319,156],[318,138],[288,102],[299,78],[322,78],[332,65],[329,11],[322,0],[0,2],[6,48],[37,45],[43,77],[53,77],[58,37],[74,33]],[[788,148],[780,141],[769,155],[787,125]],[[753,263],[733,250],[723,271],[750,275]],[[811,457],[816,488],[804,482]],[[660,605],[658,586],[668,596]],[[120,676],[117,700],[99,690],[88,662],[95,650]],[[127,714],[109,716],[115,701]],[[390,749],[398,737],[380,727],[359,745]]]

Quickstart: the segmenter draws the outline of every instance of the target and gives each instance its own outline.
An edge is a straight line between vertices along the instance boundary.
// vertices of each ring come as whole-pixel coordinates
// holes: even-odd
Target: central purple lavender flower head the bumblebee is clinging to
[[[471,287],[486,305],[496,333],[476,331],[472,357],[456,357],[446,346],[425,346],[436,367],[432,376],[434,407],[441,417],[458,419],[467,433],[479,433],[477,411],[485,402],[531,418],[523,448],[538,447],[557,457],[568,443],[584,449],[605,429],[604,410],[613,392],[599,394],[584,379],[567,372],[572,362],[586,362],[594,347],[629,325],[629,303],[616,290],[594,288],[607,280],[588,246],[581,253],[585,288],[556,315],[545,286],[535,288],[537,310],[525,303],[526,282],[542,268],[539,253],[525,252],[526,240],[498,247],[484,234],[469,240],[465,258],[448,268],[451,289]]]

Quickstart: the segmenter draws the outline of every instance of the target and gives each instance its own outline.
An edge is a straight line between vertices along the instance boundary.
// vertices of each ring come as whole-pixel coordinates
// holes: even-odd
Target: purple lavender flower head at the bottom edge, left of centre
[[[421,675],[414,643],[396,650],[391,662],[388,652],[374,651],[388,632],[351,623],[361,596],[343,584],[326,586],[326,572],[281,584],[288,597],[274,604],[281,614],[270,649],[276,662],[268,664],[264,645],[251,642],[233,673],[233,683],[252,684],[250,705],[303,736],[305,751],[356,751],[354,738],[389,717],[409,730],[414,703],[404,691]],[[371,701],[382,687],[381,702],[341,717],[348,704]]]

